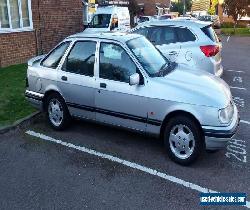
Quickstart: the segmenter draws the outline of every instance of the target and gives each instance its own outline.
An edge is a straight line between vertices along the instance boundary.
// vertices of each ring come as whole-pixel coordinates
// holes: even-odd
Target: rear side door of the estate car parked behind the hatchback
[[[170,61],[176,62],[180,53],[181,44],[178,42],[174,27],[154,26],[149,29],[149,40]]]

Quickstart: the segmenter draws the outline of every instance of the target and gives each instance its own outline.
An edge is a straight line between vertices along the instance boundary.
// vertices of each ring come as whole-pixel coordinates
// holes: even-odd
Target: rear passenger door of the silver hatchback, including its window
[[[58,71],[58,87],[72,115],[95,119],[95,41],[77,41]]]

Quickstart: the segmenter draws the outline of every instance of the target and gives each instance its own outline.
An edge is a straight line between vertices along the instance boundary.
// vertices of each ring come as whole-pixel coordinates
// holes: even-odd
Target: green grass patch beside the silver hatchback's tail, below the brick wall
[[[25,100],[26,64],[0,68],[0,127],[35,111]]]

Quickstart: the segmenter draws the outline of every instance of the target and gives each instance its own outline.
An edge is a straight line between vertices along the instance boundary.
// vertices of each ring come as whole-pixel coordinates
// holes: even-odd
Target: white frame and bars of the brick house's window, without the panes
[[[10,0],[7,0],[7,10],[8,10],[10,27],[9,28],[1,28],[1,26],[0,26],[0,33],[14,33],[14,32],[23,32],[23,31],[32,31],[33,30],[31,0],[28,0],[28,12],[29,12],[29,21],[30,21],[30,26],[28,26],[28,27],[23,27],[22,1],[21,0],[18,0],[20,28],[12,28],[12,21],[11,21],[11,14],[10,14]]]

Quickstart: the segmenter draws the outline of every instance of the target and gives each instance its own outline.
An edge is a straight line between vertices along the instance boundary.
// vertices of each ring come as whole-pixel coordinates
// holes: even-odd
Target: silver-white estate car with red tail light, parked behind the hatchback
[[[180,19],[151,21],[131,32],[147,37],[172,62],[218,77],[223,74],[222,45],[209,23]]]

